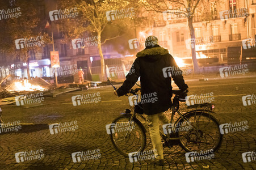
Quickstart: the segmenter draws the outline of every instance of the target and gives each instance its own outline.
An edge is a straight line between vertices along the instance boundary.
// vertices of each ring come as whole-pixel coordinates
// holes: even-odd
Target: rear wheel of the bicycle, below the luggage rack
[[[223,141],[219,122],[206,112],[192,112],[184,116],[190,121],[190,126],[183,118],[178,121],[176,131],[180,139],[180,146],[187,152],[217,151]],[[187,128],[186,128],[187,127]],[[190,128],[189,128],[190,127]],[[183,129],[183,131],[181,131]]]

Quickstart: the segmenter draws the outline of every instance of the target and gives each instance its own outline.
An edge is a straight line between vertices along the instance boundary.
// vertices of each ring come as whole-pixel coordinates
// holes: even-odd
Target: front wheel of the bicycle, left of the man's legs
[[[131,114],[124,114],[115,118],[112,124],[115,124],[114,133],[110,134],[111,142],[116,150],[128,157],[131,152],[141,152],[146,146],[146,131],[144,126],[137,118],[133,118],[132,124],[129,121]],[[132,125],[132,126],[131,126]]]

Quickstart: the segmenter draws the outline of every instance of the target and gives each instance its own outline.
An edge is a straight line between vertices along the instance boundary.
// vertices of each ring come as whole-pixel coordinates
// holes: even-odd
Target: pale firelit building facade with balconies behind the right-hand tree
[[[182,15],[163,14],[162,20],[156,19],[153,34],[174,57],[183,58],[187,63],[192,62],[191,48],[196,50],[199,65],[240,63],[249,58],[253,59],[246,57],[253,56],[253,52],[244,51],[242,41],[255,40],[255,2],[225,0],[209,5],[211,20],[202,21],[202,16],[197,13],[194,15],[195,47],[190,44],[187,18]]]

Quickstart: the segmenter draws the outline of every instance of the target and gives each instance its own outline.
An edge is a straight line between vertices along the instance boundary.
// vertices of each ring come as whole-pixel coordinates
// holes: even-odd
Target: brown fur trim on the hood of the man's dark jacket
[[[162,48],[161,46],[159,47],[154,47],[154,48],[146,48],[139,53],[136,54],[137,57],[145,57],[145,56],[154,56],[154,55],[165,55],[168,54],[168,50],[165,48]]]

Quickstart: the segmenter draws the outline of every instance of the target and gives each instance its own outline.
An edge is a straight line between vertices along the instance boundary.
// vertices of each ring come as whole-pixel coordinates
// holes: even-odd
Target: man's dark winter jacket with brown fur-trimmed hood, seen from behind
[[[116,91],[117,94],[119,96],[127,94],[140,77],[141,100],[143,100],[142,96],[145,99],[154,93],[157,95],[153,96],[153,98],[157,97],[157,100],[142,102],[144,113],[157,114],[167,111],[171,106],[171,96],[173,95],[171,77],[180,90],[188,88],[187,84],[184,83],[182,71],[168,50],[159,45],[146,48],[137,53],[136,56],[137,58],[126,76],[123,86]],[[167,76],[167,74],[169,75]]]

